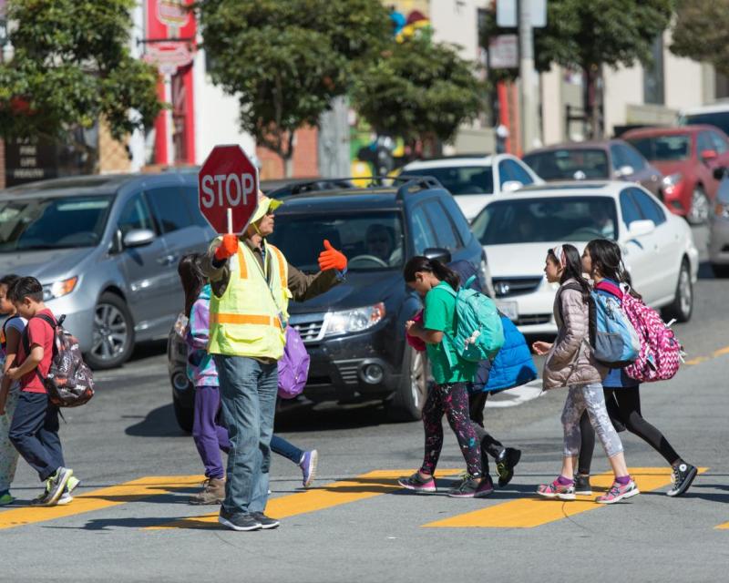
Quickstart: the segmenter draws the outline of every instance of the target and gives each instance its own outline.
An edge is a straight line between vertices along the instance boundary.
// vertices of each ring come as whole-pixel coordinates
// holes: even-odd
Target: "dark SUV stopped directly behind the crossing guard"
[[[318,271],[322,241],[348,258],[346,281],[308,302],[289,304],[290,325],[311,355],[303,395],[311,401],[382,399],[399,419],[418,419],[427,363],[405,341],[405,322],[422,308],[403,281],[414,255],[470,261],[491,290],[485,253],[453,197],[434,179],[395,187],[305,192],[284,199],[269,240],[305,272]],[[188,429],[192,388],[185,348],[169,337],[169,374],[180,426]]]

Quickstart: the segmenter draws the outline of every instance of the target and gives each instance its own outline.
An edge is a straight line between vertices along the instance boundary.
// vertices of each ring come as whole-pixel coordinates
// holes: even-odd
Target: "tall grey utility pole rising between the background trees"
[[[528,152],[539,138],[537,83],[534,74],[534,34],[530,0],[519,2],[519,79],[521,81],[521,148]]]

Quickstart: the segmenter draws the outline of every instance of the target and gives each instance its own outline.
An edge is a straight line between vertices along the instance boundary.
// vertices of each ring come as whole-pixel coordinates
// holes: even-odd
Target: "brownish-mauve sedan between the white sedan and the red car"
[[[524,162],[548,182],[562,180],[625,180],[661,196],[662,174],[621,139],[569,142],[539,148]]]

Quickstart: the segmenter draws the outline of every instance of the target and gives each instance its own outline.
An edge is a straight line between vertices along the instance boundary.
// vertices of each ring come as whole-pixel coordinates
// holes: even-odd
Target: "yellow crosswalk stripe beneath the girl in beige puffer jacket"
[[[703,474],[707,468],[699,468]],[[671,484],[671,469],[668,467],[634,467],[631,476],[642,492],[650,492]],[[594,488],[606,489],[611,486],[612,473],[591,476]],[[497,494],[498,496],[498,494]],[[536,494],[512,500],[503,504],[491,505],[474,512],[431,522],[424,527],[481,527],[481,528],[531,528],[549,522],[573,517],[583,512],[602,507],[594,501],[595,496],[578,496],[575,501],[549,500]]]

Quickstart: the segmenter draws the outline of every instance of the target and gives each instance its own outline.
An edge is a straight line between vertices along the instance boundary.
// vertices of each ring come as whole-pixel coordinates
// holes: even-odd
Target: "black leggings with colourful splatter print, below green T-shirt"
[[[446,414],[466,459],[468,474],[481,476],[481,447],[468,415],[467,387],[467,383],[436,384],[427,395],[423,406],[423,424],[426,428],[426,455],[420,468],[423,474],[432,476],[436,471],[443,448],[443,414]]]

